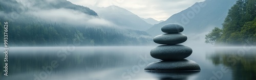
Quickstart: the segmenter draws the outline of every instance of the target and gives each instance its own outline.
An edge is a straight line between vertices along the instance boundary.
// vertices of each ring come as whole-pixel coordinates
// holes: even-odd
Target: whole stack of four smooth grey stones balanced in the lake
[[[192,49],[188,46],[179,45],[187,40],[187,36],[181,34],[184,28],[180,24],[165,24],[161,28],[166,34],[154,37],[154,42],[163,44],[153,48],[150,55],[155,59],[160,59],[148,64],[145,71],[200,71],[200,66],[191,60],[187,60],[192,54]]]

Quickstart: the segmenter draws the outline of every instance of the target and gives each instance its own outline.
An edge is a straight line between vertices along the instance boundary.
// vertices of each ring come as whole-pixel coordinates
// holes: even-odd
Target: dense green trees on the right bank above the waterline
[[[256,0],[238,0],[224,20],[222,35],[212,38],[212,32],[206,35],[206,43],[216,41],[219,44],[236,44],[255,42]],[[215,30],[215,29],[214,29]],[[212,30],[212,31],[214,31]],[[212,34],[212,35],[210,35]]]

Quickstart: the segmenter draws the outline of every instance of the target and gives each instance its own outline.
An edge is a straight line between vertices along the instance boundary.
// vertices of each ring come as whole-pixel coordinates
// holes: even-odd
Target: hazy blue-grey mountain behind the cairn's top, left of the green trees
[[[166,21],[160,22],[148,29],[153,36],[163,34],[161,27],[167,23],[179,23],[184,26],[185,34],[199,34],[210,31],[214,27],[222,27],[228,10],[236,0],[206,0],[170,16]]]

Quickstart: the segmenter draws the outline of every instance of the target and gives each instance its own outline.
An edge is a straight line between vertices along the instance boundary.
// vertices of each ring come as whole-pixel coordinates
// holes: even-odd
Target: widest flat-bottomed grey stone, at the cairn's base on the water
[[[148,64],[145,71],[200,71],[200,66],[192,60],[157,61]]]

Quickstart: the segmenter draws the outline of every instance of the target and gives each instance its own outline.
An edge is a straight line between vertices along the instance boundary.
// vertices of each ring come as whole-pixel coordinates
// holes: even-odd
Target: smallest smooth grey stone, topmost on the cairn
[[[169,24],[163,25],[161,30],[164,33],[180,33],[180,32],[183,32],[184,28],[180,24],[169,23]]]

